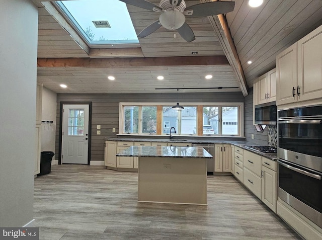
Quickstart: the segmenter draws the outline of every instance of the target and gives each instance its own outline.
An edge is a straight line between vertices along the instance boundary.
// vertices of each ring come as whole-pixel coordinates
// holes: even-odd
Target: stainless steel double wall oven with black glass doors
[[[322,227],[322,106],[278,110],[278,197]]]

